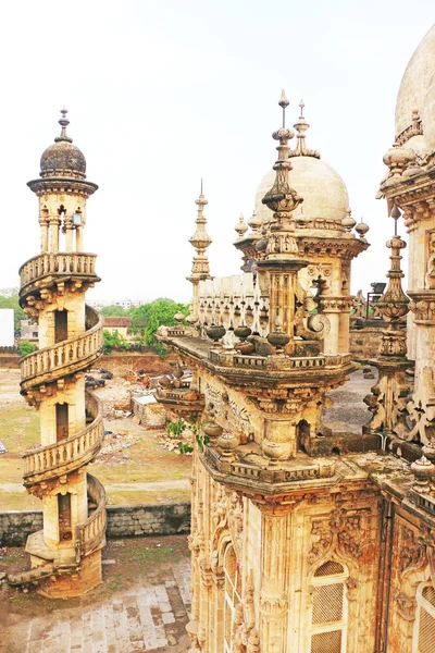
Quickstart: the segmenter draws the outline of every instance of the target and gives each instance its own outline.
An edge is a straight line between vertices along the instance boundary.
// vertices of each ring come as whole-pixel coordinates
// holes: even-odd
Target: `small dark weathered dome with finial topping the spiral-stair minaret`
[[[40,176],[86,178],[86,159],[83,152],[73,145],[73,139],[66,134],[70,121],[66,119],[66,109],[61,111],[62,118],[59,124],[62,127],[61,135],[54,138],[41,156]]]

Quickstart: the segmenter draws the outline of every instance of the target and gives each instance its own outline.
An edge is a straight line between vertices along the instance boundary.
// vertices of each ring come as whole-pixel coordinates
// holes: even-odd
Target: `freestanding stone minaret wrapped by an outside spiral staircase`
[[[51,597],[77,596],[101,581],[105,494],[86,469],[103,440],[100,401],[85,390],[85,371],[101,354],[102,321],[85,304],[100,281],[96,255],[84,251],[86,160],[66,134],[41,157],[28,182],[39,201],[40,254],[20,270],[20,303],[39,323],[39,349],[22,359],[22,394],[40,414],[40,445],[24,455],[24,485],[42,501],[44,530],[27,540],[32,570],[10,582],[38,582]],[[91,506],[91,510],[90,510]]]

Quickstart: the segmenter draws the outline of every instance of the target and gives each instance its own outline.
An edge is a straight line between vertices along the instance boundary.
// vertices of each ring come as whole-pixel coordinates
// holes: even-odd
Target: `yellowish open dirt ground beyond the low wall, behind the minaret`
[[[114,377],[97,391],[108,433],[89,471],[104,484],[109,504],[187,500],[190,456],[181,455],[176,447],[169,451],[164,431],[145,430],[132,417],[113,418],[114,406],[128,406],[133,387]],[[0,369],[0,442],[7,447],[0,454],[0,510],[39,509],[40,502],[23,488],[21,460],[23,452],[39,442],[39,416],[20,395],[16,369]]]

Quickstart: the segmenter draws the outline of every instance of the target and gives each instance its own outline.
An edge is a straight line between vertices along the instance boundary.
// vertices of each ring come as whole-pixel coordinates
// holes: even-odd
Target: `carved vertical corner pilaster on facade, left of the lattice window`
[[[261,509],[260,649],[268,653],[287,650],[289,507]]]

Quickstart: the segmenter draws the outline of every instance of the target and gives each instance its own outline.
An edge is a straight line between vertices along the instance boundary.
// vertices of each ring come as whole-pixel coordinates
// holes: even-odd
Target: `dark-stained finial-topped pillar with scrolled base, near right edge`
[[[388,287],[376,306],[388,328],[382,332],[380,356],[373,361],[380,377],[371,395],[364,398],[373,412],[373,418],[364,428],[366,432],[382,432],[384,435],[397,435],[408,439],[406,424],[408,387],[405,379],[406,370],[411,367],[407,358],[407,336],[399,322],[409,311],[409,297],[403,293],[401,280],[405,274],[400,269],[400,251],[407,244],[397,235],[397,218],[395,235],[387,241],[391,250],[390,269],[387,273]]]

